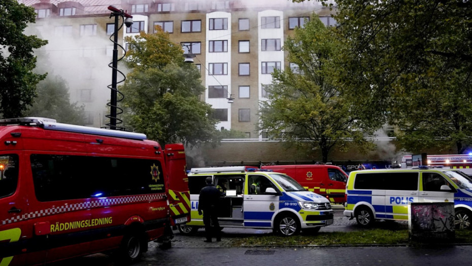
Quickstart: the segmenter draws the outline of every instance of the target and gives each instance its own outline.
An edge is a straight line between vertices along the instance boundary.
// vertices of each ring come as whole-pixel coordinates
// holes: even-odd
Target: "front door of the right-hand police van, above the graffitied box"
[[[420,202],[454,201],[454,193],[441,191],[442,185],[454,187],[444,176],[435,172],[423,172],[421,176]]]

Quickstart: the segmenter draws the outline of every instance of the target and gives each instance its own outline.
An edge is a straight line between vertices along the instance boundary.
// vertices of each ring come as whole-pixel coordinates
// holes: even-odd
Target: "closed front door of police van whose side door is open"
[[[279,196],[265,194],[265,189],[268,187],[273,187],[278,191],[275,184],[264,175],[246,176],[243,202],[244,226],[272,227],[272,219],[279,211]]]

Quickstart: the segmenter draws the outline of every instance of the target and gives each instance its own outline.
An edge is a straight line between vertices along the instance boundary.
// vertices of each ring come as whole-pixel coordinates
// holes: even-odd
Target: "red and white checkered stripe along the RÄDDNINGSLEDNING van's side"
[[[13,222],[19,222],[27,219],[48,216],[59,213],[66,213],[71,211],[79,211],[89,208],[113,206],[113,205],[122,205],[129,203],[138,203],[138,202],[147,202],[154,200],[165,199],[165,194],[148,194],[148,195],[136,195],[136,196],[126,196],[126,197],[116,197],[116,198],[96,198],[92,199],[90,202],[83,202],[77,204],[64,204],[62,206],[52,207],[45,210],[33,211],[30,213],[25,213],[22,215],[17,215],[10,217],[9,219],[3,220],[0,224],[9,224]]]

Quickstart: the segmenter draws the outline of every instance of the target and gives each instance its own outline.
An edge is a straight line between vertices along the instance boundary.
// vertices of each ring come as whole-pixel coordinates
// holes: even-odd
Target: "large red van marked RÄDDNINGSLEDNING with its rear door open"
[[[182,144],[140,133],[0,120],[0,265],[97,252],[131,263],[190,220]]]

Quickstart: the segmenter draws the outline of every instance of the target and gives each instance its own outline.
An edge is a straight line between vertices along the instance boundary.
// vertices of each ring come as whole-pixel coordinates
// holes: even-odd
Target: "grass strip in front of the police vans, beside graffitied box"
[[[433,244],[434,239],[427,241],[410,240],[408,230],[372,229],[356,232],[326,232],[313,235],[298,235],[279,237],[275,235],[251,236],[233,241],[233,246],[303,246],[303,245],[422,245]],[[445,244],[444,240],[437,243]],[[472,231],[461,230],[455,232],[455,239],[449,243],[472,244]]]

